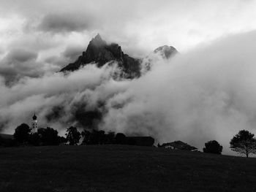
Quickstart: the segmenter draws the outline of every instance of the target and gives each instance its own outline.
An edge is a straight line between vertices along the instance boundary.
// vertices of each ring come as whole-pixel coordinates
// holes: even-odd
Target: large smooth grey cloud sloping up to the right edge
[[[217,139],[230,153],[238,130],[256,131],[255,42],[253,31],[158,62],[108,101],[102,128],[197,147]]]

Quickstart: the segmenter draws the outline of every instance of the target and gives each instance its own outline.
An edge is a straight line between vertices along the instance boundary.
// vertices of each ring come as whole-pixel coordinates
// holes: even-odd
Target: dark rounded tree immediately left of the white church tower
[[[15,128],[15,133],[13,137],[19,143],[25,144],[26,142],[29,142],[30,131],[31,131],[31,128],[29,128],[29,126],[26,123],[22,123],[20,124],[20,126]]]

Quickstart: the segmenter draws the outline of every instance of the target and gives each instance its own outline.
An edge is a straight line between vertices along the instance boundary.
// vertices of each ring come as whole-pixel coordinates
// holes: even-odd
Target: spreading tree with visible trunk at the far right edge
[[[230,141],[230,148],[237,153],[249,157],[250,153],[256,153],[255,135],[246,130],[241,130]]]

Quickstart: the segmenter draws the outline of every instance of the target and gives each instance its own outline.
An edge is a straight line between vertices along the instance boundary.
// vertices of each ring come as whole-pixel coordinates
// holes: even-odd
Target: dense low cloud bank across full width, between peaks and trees
[[[108,64],[24,77],[11,87],[2,79],[1,129],[13,133],[35,111],[39,126],[61,131],[101,128],[199,148],[217,139],[230,153],[228,142],[238,130],[256,131],[255,50],[252,31],[170,60],[154,59],[151,71],[135,80],[113,78],[118,69]]]

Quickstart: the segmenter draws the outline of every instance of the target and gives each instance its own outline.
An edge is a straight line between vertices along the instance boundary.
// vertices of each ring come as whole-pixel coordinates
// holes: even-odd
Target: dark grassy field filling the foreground
[[[256,158],[120,145],[0,148],[0,191],[256,191]]]

